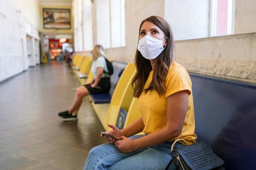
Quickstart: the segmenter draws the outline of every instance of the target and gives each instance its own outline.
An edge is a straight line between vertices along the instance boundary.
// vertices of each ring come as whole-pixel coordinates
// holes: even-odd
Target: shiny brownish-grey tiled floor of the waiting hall
[[[63,62],[29,68],[0,84],[0,170],[82,170],[89,150],[106,143],[84,98],[77,122],[57,116],[80,86]]]

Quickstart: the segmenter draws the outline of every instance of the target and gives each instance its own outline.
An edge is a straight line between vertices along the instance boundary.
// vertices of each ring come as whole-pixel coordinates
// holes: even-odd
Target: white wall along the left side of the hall
[[[28,69],[30,62],[27,56],[27,34],[38,39],[38,29],[7,0],[0,0],[0,23],[1,82]],[[39,46],[34,45],[34,49],[39,49]],[[35,57],[34,54],[32,57]]]

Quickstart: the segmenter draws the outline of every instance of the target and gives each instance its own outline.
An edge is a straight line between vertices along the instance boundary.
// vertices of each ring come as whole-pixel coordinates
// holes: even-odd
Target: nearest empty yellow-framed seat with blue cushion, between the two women
[[[91,95],[92,106],[95,113],[99,117],[103,128],[106,131],[110,130],[108,124],[114,124],[117,128],[122,129],[138,119],[140,112],[132,112],[132,78],[135,75],[136,67],[134,63],[112,62],[114,73],[111,76],[110,82],[112,89],[107,94]],[[122,71],[124,69],[124,71]],[[118,74],[122,71],[121,76]],[[118,81],[117,81],[118,79]],[[134,102],[137,104],[137,102]],[[134,110],[134,109],[133,109]],[[132,120],[131,120],[132,119]]]

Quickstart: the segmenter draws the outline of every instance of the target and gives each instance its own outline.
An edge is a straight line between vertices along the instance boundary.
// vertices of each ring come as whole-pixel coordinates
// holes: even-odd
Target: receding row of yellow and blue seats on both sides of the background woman
[[[81,84],[88,83],[93,75],[90,72],[90,57],[75,55],[73,71]],[[108,124],[122,129],[141,116],[137,99],[132,96],[132,78],[135,75],[134,63],[112,62],[114,72],[110,77],[109,93],[90,95],[89,100],[103,128],[109,130]],[[135,111],[136,110],[136,111]]]

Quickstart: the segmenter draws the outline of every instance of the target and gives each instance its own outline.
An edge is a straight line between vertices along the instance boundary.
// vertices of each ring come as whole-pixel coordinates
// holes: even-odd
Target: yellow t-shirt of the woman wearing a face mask
[[[144,89],[150,84],[153,77],[153,71],[149,73],[148,79],[144,85]],[[160,130],[166,126],[167,97],[177,93],[178,91],[188,90],[189,101],[186,111],[182,132],[180,136],[171,139],[184,139],[188,144],[194,144],[195,135],[195,117],[192,96],[192,83],[186,69],[173,61],[166,76],[166,93],[159,96],[155,90],[144,92],[138,98],[139,110],[145,124],[144,133],[150,134]]]

